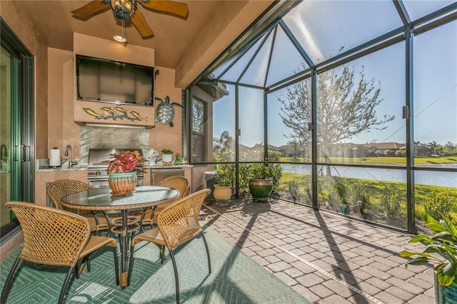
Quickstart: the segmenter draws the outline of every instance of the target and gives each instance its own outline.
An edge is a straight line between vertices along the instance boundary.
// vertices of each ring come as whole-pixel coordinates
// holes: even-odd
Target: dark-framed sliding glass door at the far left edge
[[[34,61],[0,21],[0,223],[4,238],[19,225],[4,203],[34,201]]]

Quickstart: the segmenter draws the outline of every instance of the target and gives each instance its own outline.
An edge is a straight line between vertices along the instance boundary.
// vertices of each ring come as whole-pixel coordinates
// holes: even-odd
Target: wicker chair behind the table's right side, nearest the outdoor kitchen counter
[[[184,196],[187,196],[190,191],[190,186],[189,186],[189,180],[185,178],[184,176],[169,176],[168,178],[165,178],[163,181],[159,181],[159,183],[156,183],[156,186],[161,186],[161,187],[169,187],[169,188],[174,188],[177,191],[179,191],[179,198],[183,198]],[[163,211],[167,206],[170,206],[171,203],[164,203],[159,206],[157,206],[154,209],[154,216],[152,216],[152,210],[151,208],[147,209],[146,212],[144,212],[144,215],[142,215],[142,221],[141,221],[141,226],[143,225],[149,225],[153,226],[153,224],[157,223],[157,216],[159,216],[159,213]],[[138,213],[137,215],[141,215],[141,213]]]

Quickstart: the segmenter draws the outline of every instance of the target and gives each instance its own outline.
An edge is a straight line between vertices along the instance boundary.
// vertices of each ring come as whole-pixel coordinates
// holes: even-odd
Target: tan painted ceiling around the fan
[[[49,47],[72,51],[73,32],[101,39],[112,39],[113,35],[121,35],[121,22],[114,19],[111,10],[97,14],[86,21],[72,16],[71,11],[89,2],[21,0],[18,4],[29,16],[29,20],[44,33],[44,41]],[[156,66],[176,69],[181,58],[189,49],[194,49],[199,41],[216,39],[216,36],[224,35],[224,31],[227,30],[231,31],[229,39],[233,41],[232,37],[239,36],[272,1],[188,0],[179,2],[186,3],[189,8],[187,19],[160,14],[137,4],[146,22],[154,31],[152,38],[142,39],[136,28],[130,22],[126,23],[128,44],[154,49]],[[233,22],[237,21],[236,19],[239,22]],[[226,46],[222,50],[229,46],[231,41],[226,41]]]

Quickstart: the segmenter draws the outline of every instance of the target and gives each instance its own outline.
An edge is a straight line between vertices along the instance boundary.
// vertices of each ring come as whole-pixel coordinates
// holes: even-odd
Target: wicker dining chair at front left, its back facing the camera
[[[24,245],[6,278],[1,292],[1,303],[6,303],[11,290],[11,279],[21,260],[69,267],[59,296],[59,303],[62,303],[73,270],[76,270],[76,278],[79,278],[89,255],[104,246],[113,248],[116,285],[119,285],[116,240],[91,235],[91,226],[87,218],[34,203],[11,201],[5,203],[5,206],[14,212],[21,225]],[[88,270],[90,271],[89,264]]]

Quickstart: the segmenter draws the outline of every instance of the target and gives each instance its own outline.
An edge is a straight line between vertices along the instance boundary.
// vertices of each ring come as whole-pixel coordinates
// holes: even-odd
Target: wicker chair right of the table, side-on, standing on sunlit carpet
[[[211,273],[209,248],[199,223],[201,205],[210,192],[211,191],[209,189],[204,189],[196,193],[192,193],[189,196],[185,196],[178,201],[174,201],[171,205],[159,213],[157,218],[157,227],[134,236],[133,240],[131,240],[127,285],[130,284],[131,271],[134,267],[134,247],[137,243],[140,243],[143,240],[159,245],[159,248],[161,248],[161,263],[164,263],[164,248],[168,248],[174,268],[176,303],[179,303],[179,279],[173,248],[189,242],[189,240],[192,240],[197,235],[201,235],[206,248],[209,273]]]

